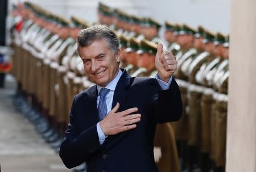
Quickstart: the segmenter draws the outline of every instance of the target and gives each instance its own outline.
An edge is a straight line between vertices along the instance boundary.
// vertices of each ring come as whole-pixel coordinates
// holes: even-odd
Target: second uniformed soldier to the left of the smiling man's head
[[[48,74],[46,76],[46,81],[49,87],[49,120],[54,128],[54,133],[51,136],[45,136],[47,141],[53,142],[59,139],[59,134],[56,131],[59,131],[59,112],[58,112],[58,93],[56,90],[59,89],[59,84],[57,83],[57,78],[59,77],[59,73],[57,69],[59,68],[60,62],[64,57],[65,51],[67,51],[67,47],[72,43],[72,39],[69,38],[69,20],[56,16],[57,22],[59,22],[59,31],[57,31],[57,35],[59,39],[53,45],[53,47],[46,53],[45,60],[49,61],[49,64],[46,64],[46,70],[48,70]]]

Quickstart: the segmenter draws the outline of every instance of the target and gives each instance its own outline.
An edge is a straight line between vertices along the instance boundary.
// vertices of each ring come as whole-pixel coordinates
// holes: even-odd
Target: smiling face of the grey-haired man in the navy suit
[[[101,87],[108,85],[119,70],[120,51],[115,54],[104,40],[95,40],[88,47],[80,47],[79,54],[84,63],[85,73]]]

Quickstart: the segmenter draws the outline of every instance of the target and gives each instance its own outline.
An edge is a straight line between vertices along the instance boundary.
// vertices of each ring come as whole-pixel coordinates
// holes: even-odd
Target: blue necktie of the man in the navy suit
[[[98,102],[98,118],[100,121],[105,118],[108,108],[106,106],[106,95],[109,93],[109,89],[102,88],[100,90],[100,101]]]

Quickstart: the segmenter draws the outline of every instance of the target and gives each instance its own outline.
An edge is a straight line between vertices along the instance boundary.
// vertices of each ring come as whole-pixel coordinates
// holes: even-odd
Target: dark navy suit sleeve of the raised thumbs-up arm
[[[151,81],[149,81],[151,82]],[[172,78],[171,85],[167,90],[161,90],[155,81],[149,83],[148,93],[151,100],[151,112],[154,112],[154,118],[158,123],[166,123],[169,121],[177,121],[182,115],[182,100],[180,89],[177,82]]]

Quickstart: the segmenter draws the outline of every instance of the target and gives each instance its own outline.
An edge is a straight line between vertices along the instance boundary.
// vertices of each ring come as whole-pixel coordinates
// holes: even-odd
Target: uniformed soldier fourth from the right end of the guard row
[[[195,41],[194,41],[194,46],[199,49],[197,49],[197,53],[195,56],[189,57],[183,63],[183,66],[181,66],[181,71],[183,71],[183,73],[188,77],[188,81],[189,81],[188,90],[187,90],[187,99],[188,99],[188,142],[187,144],[188,144],[188,167],[191,170],[197,169],[200,166],[200,156],[201,156],[200,147],[204,145],[204,141],[203,141],[204,137],[201,137],[201,136],[202,136],[202,133],[205,133],[207,131],[205,127],[208,126],[207,119],[205,119],[204,118],[205,116],[201,114],[201,108],[200,108],[201,106],[200,100],[201,100],[201,95],[203,93],[204,87],[200,86],[195,79],[196,72],[199,70],[201,64],[203,64],[205,59],[207,59],[210,55],[209,52],[204,51],[203,46],[198,45],[200,43],[201,44],[203,43],[203,38],[205,38],[204,40],[205,44],[207,44],[207,41],[212,41],[210,40],[209,33],[208,32],[205,33],[204,28],[199,27],[197,30],[197,33],[195,34]],[[204,158],[203,161],[205,161],[205,159],[206,158]]]

